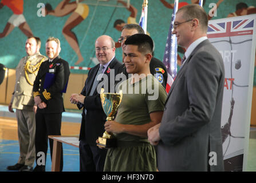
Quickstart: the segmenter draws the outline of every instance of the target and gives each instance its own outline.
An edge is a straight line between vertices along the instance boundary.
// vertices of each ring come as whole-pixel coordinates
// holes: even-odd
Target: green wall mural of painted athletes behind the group
[[[46,39],[57,37],[61,41],[60,55],[70,66],[93,67],[98,63],[94,41],[107,34],[116,42],[116,57],[121,61],[122,51],[117,42],[121,27],[139,22],[143,3],[143,0],[0,1],[0,62],[11,69],[25,56],[25,41],[30,35],[41,38],[42,54],[45,54]],[[204,2],[209,19],[256,13],[255,0],[243,1],[238,9],[236,5],[241,0]],[[155,42],[155,57],[159,59],[163,59],[173,3],[174,0],[148,0],[147,30]],[[198,3],[198,0],[180,0],[179,7],[189,3]],[[180,56],[183,52],[179,48]],[[88,71],[71,69],[71,72],[86,74]],[[255,82],[254,79],[254,85]]]

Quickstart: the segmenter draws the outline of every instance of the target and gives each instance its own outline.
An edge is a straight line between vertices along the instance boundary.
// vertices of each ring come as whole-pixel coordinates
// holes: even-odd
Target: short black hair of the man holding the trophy
[[[133,34],[124,42],[125,45],[136,45],[140,53],[153,52],[153,40],[147,34]]]

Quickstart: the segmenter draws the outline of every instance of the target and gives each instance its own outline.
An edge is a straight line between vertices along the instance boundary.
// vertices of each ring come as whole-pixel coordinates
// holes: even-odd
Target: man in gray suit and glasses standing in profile
[[[160,171],[223,171],[220,117],[225,70],[207,40],[207,14],[199,5],[176,13],[173,34],[186,56],[166,100],[162,121],[148,130]],[[184,58],[184,57],[183,57]]]

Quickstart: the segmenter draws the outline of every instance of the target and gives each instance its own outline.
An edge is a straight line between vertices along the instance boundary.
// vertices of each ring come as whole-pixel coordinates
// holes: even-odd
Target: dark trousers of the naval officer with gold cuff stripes
[[[46,154],[48,150],[48,136],[60,136],[61,135],[61,117],[62,113],[53,113],[53,114],[41,114],[36,113],[36,169],[37,170],[45,170],[46,164]],[[53,154],[53,140],[49,139],[50,144],[50,157],[52,159]],[[40,153],[38,153],[40,152]],[[37,154],[41,153],[45,154],[45,162],[44,165],[38,165],[38,162],[42,164],[41,156],[37,156]],[[39,159],[39,160],[38,160]],[[60,162],[60,171],[63,169],[63,150],[61,146],[61,162]]]

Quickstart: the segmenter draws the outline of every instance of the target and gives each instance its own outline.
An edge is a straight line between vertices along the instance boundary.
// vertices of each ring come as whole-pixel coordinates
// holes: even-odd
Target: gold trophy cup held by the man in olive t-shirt
[[[123,97],[122,90],[119,93],[104,93],[102,88],[100,91],[100,100],[103,106],[103,110],[107,115],[107,121],[112,121],[115,118],[117,108],[119,107]],[[116,146],[116,138],[112,133],[104,132],[103,137],[98,138],[99,144],[102,148],[113,148]]]

